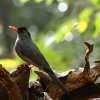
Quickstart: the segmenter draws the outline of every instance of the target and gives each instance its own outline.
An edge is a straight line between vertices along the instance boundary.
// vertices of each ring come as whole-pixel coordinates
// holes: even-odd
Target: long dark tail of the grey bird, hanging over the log
[[[68,93],[68,89],[63,85],[63,83],[55,76],[54,72],[50,69],[45,70],[49,76],[52,78],[53,82],[57,84],[63,91],[64,93]]]

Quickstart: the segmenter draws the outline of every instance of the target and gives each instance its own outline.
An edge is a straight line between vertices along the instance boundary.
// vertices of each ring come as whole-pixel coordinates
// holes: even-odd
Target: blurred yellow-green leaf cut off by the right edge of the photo
[[[95,31],[93,33],[93,37],[97,37],[100,34],[100,12],[97,13],[94,24],[95,24]]]

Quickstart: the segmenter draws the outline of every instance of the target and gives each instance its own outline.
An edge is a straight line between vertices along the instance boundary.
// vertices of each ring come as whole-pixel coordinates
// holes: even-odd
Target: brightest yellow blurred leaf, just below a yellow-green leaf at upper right
[[[88,21],[87,20],[80,20],[79,21],[78,31],[80,33],[85,32],[87,27],[88,27]]]

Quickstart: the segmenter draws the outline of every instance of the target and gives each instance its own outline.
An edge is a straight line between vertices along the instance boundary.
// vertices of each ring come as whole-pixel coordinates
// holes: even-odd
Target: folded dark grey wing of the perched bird
[[[48,62],[46,61],[42,53],[39,51],[36,45],[32,43],[31,41],[26,42],[26,43],[23,41],[20,41],[17,43],[17,47],[19,48],[19,51],[17,49],[16,51],[17,53],[19,52],[18,54],[23,60],[29,63],[33,62],[33,64],[35,64],[38,67],[49,66]]]

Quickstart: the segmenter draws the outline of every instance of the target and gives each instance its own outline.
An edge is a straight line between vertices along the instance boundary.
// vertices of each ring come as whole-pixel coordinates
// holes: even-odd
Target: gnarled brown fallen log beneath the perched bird
[[[30,66],[19,65],[14,71],[8,72],[0,65],[0,100],[90,100],[100,98],[100,60],[90,67],[89,57],[93,44],[85,42],[84,68],[74,68],[55,75],[68,88],[68,94],[53,82],[44,71],[35,71],[37,80],[29,82]]]

